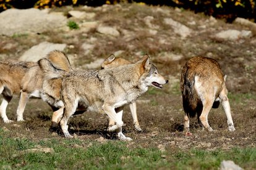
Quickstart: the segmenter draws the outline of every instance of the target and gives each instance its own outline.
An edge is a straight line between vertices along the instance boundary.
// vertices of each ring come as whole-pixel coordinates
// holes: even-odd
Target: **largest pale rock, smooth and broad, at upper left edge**
[[[33,16],[33,17],[32,17]],[[0,34],[41,33],[66,26],[63,15],[47,14],[39,9],[8,9],[0,13]]]

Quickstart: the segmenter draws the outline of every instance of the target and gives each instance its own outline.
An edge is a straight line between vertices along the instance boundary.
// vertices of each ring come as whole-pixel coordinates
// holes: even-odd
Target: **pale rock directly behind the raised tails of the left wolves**
[[[54,50],[63,51],[67,44],[54,44],[51,42],[41,42],[40,44],[33,46],[20,57],[19,60],[26,62],[37,62],[42,57],[45,57],[49,52]]]

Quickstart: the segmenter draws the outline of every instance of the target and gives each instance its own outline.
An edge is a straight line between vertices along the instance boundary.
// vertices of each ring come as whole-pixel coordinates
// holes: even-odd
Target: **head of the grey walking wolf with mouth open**
[[[140,81],[145,88],[153,86],[161,89],[163,88],[163,84],[168,83],[168,79],[164,79],[164,77],[158,73],[155,65],[150,63],[150,57],[148,55],[144,55],[143,60],[138,63],[140,64]]]

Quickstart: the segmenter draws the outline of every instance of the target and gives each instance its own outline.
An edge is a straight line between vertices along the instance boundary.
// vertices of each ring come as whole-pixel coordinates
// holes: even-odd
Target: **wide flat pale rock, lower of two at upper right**
[[[225,30],[215,34],[215,36],[216,38],[220,38],[224,40],[236,41],[237,39],[240,39],[240,38],[250,38],[252,36],[252,31]]]

